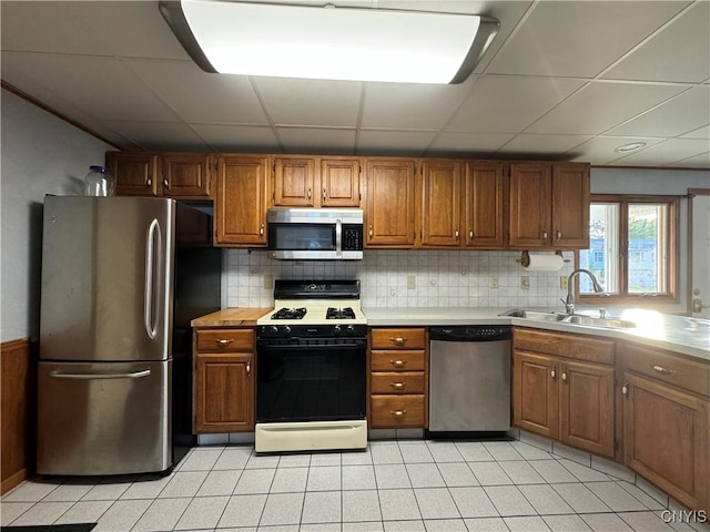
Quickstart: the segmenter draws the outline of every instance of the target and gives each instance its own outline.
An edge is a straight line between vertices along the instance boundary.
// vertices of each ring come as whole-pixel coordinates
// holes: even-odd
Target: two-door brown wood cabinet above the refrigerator
[[[108,152],[106,165],[121,196],[209,200],[214,166],[205,153]]]

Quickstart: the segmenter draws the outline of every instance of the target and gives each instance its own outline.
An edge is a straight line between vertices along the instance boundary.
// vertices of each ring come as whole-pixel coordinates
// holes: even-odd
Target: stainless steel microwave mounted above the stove
[[[270,208],[268,256],[282,260],[359,260],[362,208]]]

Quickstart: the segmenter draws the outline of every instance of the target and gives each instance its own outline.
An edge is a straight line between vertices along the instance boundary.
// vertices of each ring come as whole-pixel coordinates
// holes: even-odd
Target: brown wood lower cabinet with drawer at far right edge
[[[622,345],[626,464],[682,504],[710,511],[710,365]]]

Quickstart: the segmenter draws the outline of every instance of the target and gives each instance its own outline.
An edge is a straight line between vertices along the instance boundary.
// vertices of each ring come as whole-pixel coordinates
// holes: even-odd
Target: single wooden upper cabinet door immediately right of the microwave
[[[412,247],[415,243],[415,162],[368,160],[365,243],[367,246]]]

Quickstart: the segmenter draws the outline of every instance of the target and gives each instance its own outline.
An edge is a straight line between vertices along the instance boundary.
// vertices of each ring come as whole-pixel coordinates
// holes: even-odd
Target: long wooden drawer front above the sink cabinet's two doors
[[[615,342],[580,335],[566,335],[516,327],[513,335],[516,349],[545,352],[588,362],[613,364]]]

